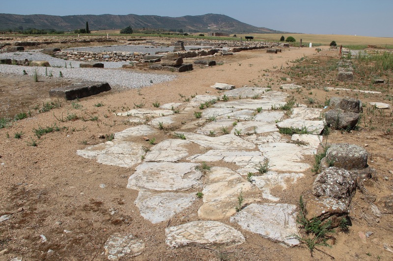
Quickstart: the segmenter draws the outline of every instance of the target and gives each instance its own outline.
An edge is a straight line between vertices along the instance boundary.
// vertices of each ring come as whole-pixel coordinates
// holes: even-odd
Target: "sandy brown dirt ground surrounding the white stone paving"
[[[332,40],[339,44],[337,39]],[[370,72],[373,74],[365,76],[355,70],[354,81],[339,82],[336,80],[338,50],[326,46],[319,48],[320,51],[291,47],[278,54],[261,49],[217,56],[214,59],[222,65],[194,65],[193,71],[168,72],[177,75],[169,82],[138,90],[111,91],[76,101],[49,97],[49,89],[67,85],[67,79],[48,77],[33,82],[31,78],[0,75],[1,112],[11,115],[11,112],[30,111],[31,114],[27,119],[13,121],[0,129],[0,216],[11,214],[9,220],[0,223],[0,260],[9,261],[15,257],[23,257],[24,261],[106,260],[103,246],[114,233],[130,233],[145,243],[146,248],[138,257],[123,260],[322,261],[330,260],[330,256],[336,260],[392,260],[393,253],[384,249],[384,245],[393,249],[392,211],[378,205],[381,197],[392,194],[393,190],[392,71]],[[114,71],[113,77],[115,75]],[[375,77],[382,77],[385,83],[373,85]],[[364,146],[369,153],[368,164],[377,172],[374,179],[365,180],[363,193],[358,190],[352,200],[349,233],[337,232],[335,239],[329,240],[331,248],[318,247],[321,251],[314,251],[310,256],[304,244],[285,248],[242,230],[225,218],[219,221],[241,231],[245,243],[171,249],[165,243],[165,228],[200,220],[196,212],[202,201],[197,200],[169,221],[152,224],[140,215],[134,204],[138,191],[126,188],[134,167],[99,164],[76,154],[86,146],[105,142],[100,138],[102,136],[134,126],[127,117],[116,116],[116,112],[126,112],[142,104],[143,108],[154,109],[153,103],[185,102],[194,95],[223,95],[210,88],[216,82],[232,84],[236,88],[271,87],[274,91],[285,92],[288,99],[293,98],[296,103],[315,108],[323,108],[325,101],[334,96],[359,98],[365,104],[357,130],[331,130],[324,137],[324,142],[328,143],[348,142]],[[283,83],[303,87],[282,90],[280,85]],[[325,87],[382,93],[365,94]],[[368,104],[372,101],[388,103],[391,108],[377,110]],[[40,112],[47,102],[56,108]],[[181,123],[177,122],[179,124],[154,136],[156,143],[173,137],[173,131],[195,121],[192,113],[182,113]],[[69,115],[77,117],[65,120]],[[59,131],[45,134],[40,139],[34,135],[34,129],[55,124]],[[197,128],[194,125],[187,131]],[[16,133],[22,134],[22,138],[14,138]],[[37,146],[31,146],[32,142],[37,142]],[[149,142],[145,142],[145,146],[152,147]],[[194,147],[191,150],[200,152],[202,149]],[[314,159],[309,156],[305,161],[312,165]],[[232,165],[219,162],[214,166]],[[274,188],[272,194],[280,197],[280,203],[298,205],[300,195],[309,195],[315,179],[315,173],[310,169],[304,174],[296,184],[284,190]],[[102,184],[105,187],[100,187]],[[370,200],[370,196],[374,200]],[[372,213],[372,203],[379,206],[382,212],[379,217]],[[372,232],[369,237],[364,236],[367,232]],[[45,235],[47,241],[43,242],[40,235]]]

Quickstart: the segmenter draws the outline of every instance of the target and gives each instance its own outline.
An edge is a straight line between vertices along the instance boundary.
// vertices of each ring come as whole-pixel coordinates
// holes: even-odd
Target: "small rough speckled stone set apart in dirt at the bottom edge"
[[[144,242],[138,237],[120,233],[109,237],[104,245],[108,260],[136,257],[142,253],[144,247]]]

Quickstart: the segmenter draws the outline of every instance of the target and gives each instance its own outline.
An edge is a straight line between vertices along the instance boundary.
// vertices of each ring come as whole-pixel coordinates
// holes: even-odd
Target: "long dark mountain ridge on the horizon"
[[[184,32],[226,32],[226,33],[281,33],[265,27],[242,23],[226,15],[205,14],[198,16],[163,17],[155,15],[16,15],[0,14],[0,30],[55,29],[74,31],[85,28],[90,30],[149,28],[179,30]]]

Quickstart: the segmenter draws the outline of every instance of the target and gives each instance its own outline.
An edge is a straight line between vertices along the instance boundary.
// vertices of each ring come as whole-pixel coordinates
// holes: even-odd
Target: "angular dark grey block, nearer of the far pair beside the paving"
[[[335,109],[326,112],[325,119],[329,126],[337,130],[353,129],[358,124],[359,114]]]

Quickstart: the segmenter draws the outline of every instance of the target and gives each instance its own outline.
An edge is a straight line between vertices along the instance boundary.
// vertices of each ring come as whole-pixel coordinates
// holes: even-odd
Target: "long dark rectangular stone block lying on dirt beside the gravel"
[[[49,91],[49,96],[74,100],[108,91],[111,91],[111,86],[107,82],[82,82],[67,87],[52,89]]]

